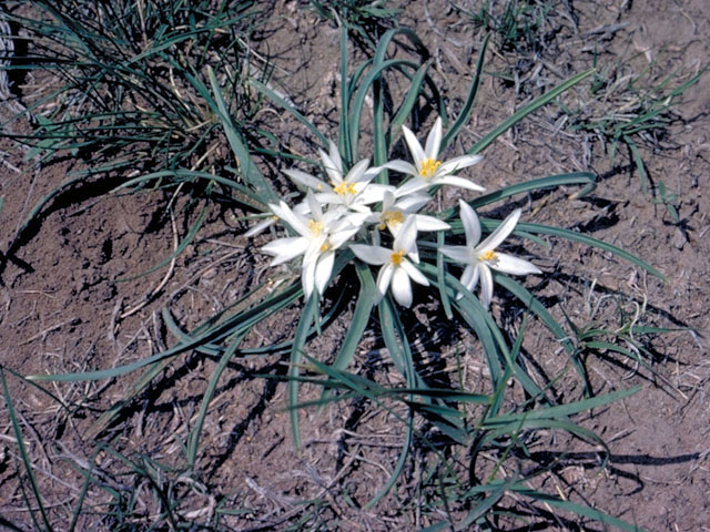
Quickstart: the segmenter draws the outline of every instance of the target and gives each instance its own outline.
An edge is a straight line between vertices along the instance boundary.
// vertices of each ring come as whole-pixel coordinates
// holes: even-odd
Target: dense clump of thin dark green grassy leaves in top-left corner
[[[30,45],[7,68],[43,82],[23,94],[36,131],[6,130],[28,157],[68,150],[95,171],[219,166],[217,122],[193,84],[207,66],[223,75],[235,124],[257,109],[246,88],[268,71],[248,44],[257,2],[38,0],[28,16],[18,14],[27,2],[13,3],[6,18]]]

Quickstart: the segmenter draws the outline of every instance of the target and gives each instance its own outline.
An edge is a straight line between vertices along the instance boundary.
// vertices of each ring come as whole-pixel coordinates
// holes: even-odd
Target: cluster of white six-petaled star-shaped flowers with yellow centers
[[[291,208],[281,201],[268,207],[274,217],[254,226],[247,236],[263,231],[276,221],[285,223],[298,236],[278,238],[262,247],[272,255],[272,266],[303,256],[302,284],[306,298],[314,290],[322,295],[327,286],[335,254],[346,245],[361,260],[381,266],[377,275],[379,301],[388,289],[399,305],[412,305],[412,280],[427,286],[429,283],[418,269],[417,233],[445,231],[450,226],[434,217],[418,214],[432,197],[427,190],[434,185],[453,185],[470,191],[483,191],[477,184],[453,174],[480,161],[479,155],[463,155],[447,162],[438,160],[442,145],[442,120],[437,119],[424,147],[414,133],[403,126],[404,137],[414,160],[390,161],[378,167],[369,167],[369,161],[355,164],[347,174],[337,146],[329,143],[329,153],[321,151],[321,158],[328,181],[323,181],[298,170],[286,174],[306,187],[305,201]],[[410,176],[398,187],[373,183],[384,168]],[[495,248],[513,232],[520,211],[509,215],[485,241],[480,241],[480,224],[475,211],[460,201],[460,217],[466,234],[466,246],[442,246],[439,252],[465,265],[462,284],[473,290],[481,285],[481,303],[487,307],[493,297],[490,268],[514,275],[539,274],[531,263],[495,252]],[[373,244],[352,243],[368,237],[373,229]],[[390,234],[392,247],[381,244],[379,232]],[[459,294],[462,297],[462,294]]]

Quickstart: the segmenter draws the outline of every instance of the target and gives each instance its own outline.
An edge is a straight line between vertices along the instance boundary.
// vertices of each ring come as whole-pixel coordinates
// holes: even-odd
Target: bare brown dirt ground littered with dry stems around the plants
[[[625,64],[626,71],[620,66],[606,71],[609,82],[643,69],[650,69],[649,78],[656,80],[676,70],[679,79],[687,79],[710,55],[710,16],[704,3],[560,2],[560,17],[571,17],[577,24],[564,25],[555,41],[557,48],[527,65],[510,65],[503,54],[491,54],[487,72],[516,71],[523,81],[506,83],[497,75],[484,79],[462,146],[470,145],[541,90],[592,66],[595,57],[599,64]],[[302,8],[295,2],[276,4],[262,52],[283,69],[275,71],[275,82],[300,109],[317,116],[324,133],[334,135],[338,31]],[[471,37],[470,22],[445,2],[412,2],[400,22],[415,28],[430,50],[436,75],[456,105],[465,94],[480,44]],[[531,252],[552,275],[545,282],[532,280],[528,287],[549,301],[557,317],[565,313],[579,327],[595,321],[622,324],[638,316],[648,325],[692,328],[652,339],[652,371],[606,352],[587,358],[595,392],[633,385],[640,385],[641,390],[580,421],[609,444],[611,454],[606,463],[599,449],[579,442],[564,447],[565,442],[558,441],[567,456],[554,474],[541,480],[541,487],[552,493],[589,503],[653,532],[710,531],[707,80],[701,79],[683,95],[667,135],[640,146],[650,178],[662,181],[678,197],[678,223],[662,204],[640,192],[638,171],[632,170],[625,150],[619,150],[612,163],[608,143],[595,133],[558,122],[561,114],[555,105],[493,144],[476,168],[478,181],[491,190],[555,173],[592,170],[601,180],[587,198],[571,198],[576,191],[570,188],[514,200],[526,208],[527,219],[587,232],[643,258],[667,277],[663,283],[601,252],[550,241],[549,250],[539,246]],[[22,88],[28,99],[32,83],[28,79]],[[574,105],[582,102],[582,96],[572,91],[565,101]],[[598,109],[581,112],[594,114]],[[9,102],[1,111],[3,117],[16,112]],[[22,122],[12,126],[30,127]],[[290,135],[293,130],[288,124],[283,131],[285,145],[304,150],[303,135]],[[57,530],[68,528],[84,482],[71,463],[93,461],[109,489],[122,491],[124,483],[138,482],[132,485],[139,493],[133,511],[142,521],[135,525],[148,528],[146,523],[156,519],[151,513],[154,505],[148,482],[132,479],[126,471],[133,466],[121,463],[106,449],[134,457],[134,463],[143,468],[150,469],[151,461],[180,468],[181,441],[200,407],[214,360],[183,356],[139,396],[129,415],[100,434],[88,430],[102,409],[123,397],[130,378],[47,386],[64,405],[71,405],[67,410],[12,374],[113,367],[159,352],[175,341],[161,318],[162,308],[170,308],[187,330],[248,288],[267,283],[268,274],[260,269],[264,259],[253,244],[239,236],[246,226],[236,221],[235,213],[213,205],[199,238],[174,264],[138,279],[121,280],[169,255],[176,235],[189,231],[195,209],[180,202],[170,204],[172,196],[163,192],[108,196],[105,192],[113,186],[109,180],[68,187],[43,208],[37,223],[20,231],[32,206],[71,172],[81,170],[81,161],[60,156],[39,164],[26,160],[23,150],[7,139],[0,143],[0,364],[7,370],[10,396],[50,518]],[[495,308],[504,317],[505,310],[505,305]],[[280,323],[260,328],[253,345],[283,341],[297,316],[295,308],[281,315]],[[427,318],[422,304],[415,316],[423,335],[435,336],[439,327],[427,319],[438,315]],[[312,356],[328,360],[346,327],[346,321],[335,324],[324,338],[312,342]],[[393,371],[379,347],[367,336],[355,364],[363,375],[386,380]],[[524,347],[540,377],[557,375],[568,364],[541,328],[530,328]],[[422,364],[433,360],[445,374],[454,364],[449,357],[453,347],[444,342],[436,351],[423,355]],[[476,375],[483,365],[474,355],[468,364],[471,391],[477,391]],[[397,460],[403,429],[386,413],[359,403],[305,411],[304,448],[293,449],[284,411],[285,388],[274,379],[256,377],[284,371],[284,360],[277,358],[246,357],[230,366],[211,405],[199,458],[202,475],[163,472],[171,489],[184,492],[183,513],[199,520],[221,504],[240,508],[241,513],[224,518],[225,526],[232,530],[414,530],[430,524],[417,514],[416,498],[408,491],[407,482],[418,474],[416,453],[398,489],[373,509],[359,508],[382,488]],[[570,379],[556,391],[560,399],[579,398],[579,382]],[[306,389],[305,396],[308,393],[313,390]],[[0,516],[4,521],[0,525],[32,530],[21,489],[27,489],[21,482],[24,473],[4,403],[2,409]],[[101,452],[97,452],[98,442],[105,446]],[[542,456],[537,459],[545,461]],[[90,524],[109,530],[101,529],[106,524],[97,523],[92,513],[94,504],[99,508],[105,502],[106,493],[94,487],[89,490],[88,510],[79,518],[78,530]],[[143,495],[145,500],[141,500]],[[315,509],[304,503],[315,499],[322,501]],[[565,518],[537,514],[530,521],[537,524],[529,529],[520,523],[506,528],[505,520],[500,526],[602,530],[599,524]]]

